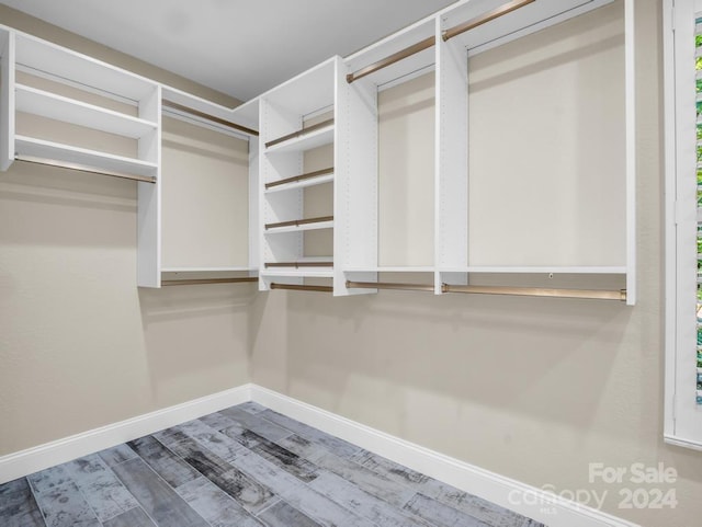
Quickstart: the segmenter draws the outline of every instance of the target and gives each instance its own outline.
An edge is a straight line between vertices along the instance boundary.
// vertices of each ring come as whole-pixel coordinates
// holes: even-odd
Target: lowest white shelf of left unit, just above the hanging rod
[[[58,162],[78,163],[113,172],[124,172],[135,175],[156,176],[158,164],[139,159],[125,158],[112,153],[88,150],[86,148],[45,141],[33,137],[15,136],[15,152],[35,158],[49,159]]]

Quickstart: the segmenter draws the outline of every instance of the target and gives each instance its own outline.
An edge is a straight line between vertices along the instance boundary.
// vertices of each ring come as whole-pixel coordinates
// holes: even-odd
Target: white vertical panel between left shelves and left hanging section
[[[137,183],[137,285],[161,287],[161,87],[139,101],[139,117],[157,123],[138,140],[138,156],[156,163],[156,183]]]

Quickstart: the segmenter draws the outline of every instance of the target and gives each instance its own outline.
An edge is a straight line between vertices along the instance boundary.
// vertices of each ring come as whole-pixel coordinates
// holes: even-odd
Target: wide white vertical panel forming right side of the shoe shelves
[[[347,289],[344,268],[377,267],[377,88],[366,79],[347,81],[349,66],[337,61],[335,136],[333,295],[376,293]],[[375,282],[377,273],[353,273]]]

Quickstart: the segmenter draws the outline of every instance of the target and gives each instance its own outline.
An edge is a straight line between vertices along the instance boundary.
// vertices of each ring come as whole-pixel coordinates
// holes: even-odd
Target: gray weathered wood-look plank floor
[[[537,527],[249,402],[0,485],[2,527]]]

